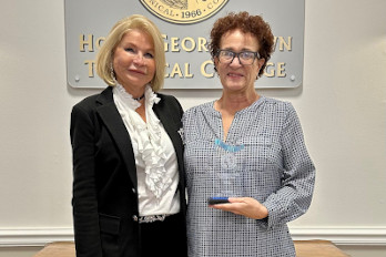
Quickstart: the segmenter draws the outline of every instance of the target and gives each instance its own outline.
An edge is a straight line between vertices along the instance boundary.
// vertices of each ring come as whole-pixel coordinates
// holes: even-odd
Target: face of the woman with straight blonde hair
[[[116,81],[130,92],[144,88],[155,74],[152,38],[138,29],[126,32],[116,45],[113,68]]]

